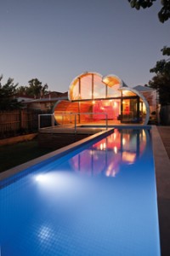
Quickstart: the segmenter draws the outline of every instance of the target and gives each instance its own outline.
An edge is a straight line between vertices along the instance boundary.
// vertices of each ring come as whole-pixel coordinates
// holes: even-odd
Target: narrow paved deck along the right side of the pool
[[[170,255],[170,126],[152,126],[161,256]]]

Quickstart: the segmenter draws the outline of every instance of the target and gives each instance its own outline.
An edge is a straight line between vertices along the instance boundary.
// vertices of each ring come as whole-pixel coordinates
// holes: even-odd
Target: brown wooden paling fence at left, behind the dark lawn
[[[0,111],[0,138],[37,131],[39,113],[42,111],[27,109]]]

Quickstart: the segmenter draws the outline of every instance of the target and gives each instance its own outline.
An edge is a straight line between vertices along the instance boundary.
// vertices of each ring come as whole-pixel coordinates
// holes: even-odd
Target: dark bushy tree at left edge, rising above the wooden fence
[[[20,102],[14,99],[16,87],[14,79],[9,78],[6,84],[1,83],[3,75],[0,76],[0,110],[12,110],[21,107]]]

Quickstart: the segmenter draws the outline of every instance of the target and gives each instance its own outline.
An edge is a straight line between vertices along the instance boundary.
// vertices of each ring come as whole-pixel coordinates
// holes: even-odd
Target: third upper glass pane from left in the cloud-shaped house
[[[105,98],[105,84],[102,79],[94,75],[94,99]]]

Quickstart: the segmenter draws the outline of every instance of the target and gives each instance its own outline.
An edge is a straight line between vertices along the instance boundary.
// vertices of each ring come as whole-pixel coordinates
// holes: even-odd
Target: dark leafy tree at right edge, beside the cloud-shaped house
[[[162,55],[170,55],[170,47],[161,49]],[[149,85],[159,94],[161,105],[170,105],[170,58],[156,62],[156,66],[150,69],[150,73],[156,76],[150,80]]]

